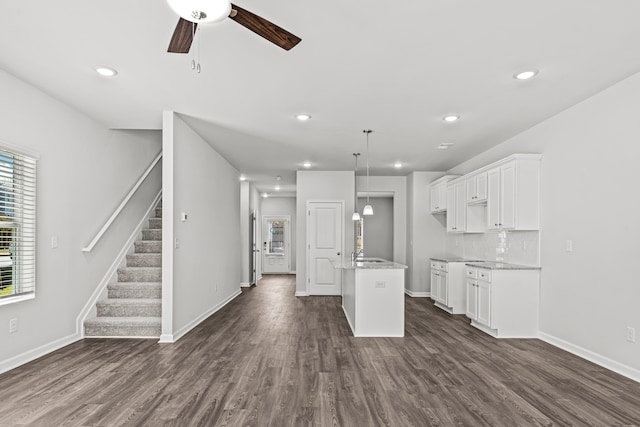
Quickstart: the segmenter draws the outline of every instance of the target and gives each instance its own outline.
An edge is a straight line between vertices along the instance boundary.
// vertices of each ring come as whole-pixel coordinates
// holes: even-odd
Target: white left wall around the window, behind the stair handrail
[[[0,306],[2,372],[80,337],[76,317],[160,190],[160,166],[93,252],[80,249],[160,152],[161,137],[109,130],[1,70],[0,93],[0,147],[39,158],[36,298]],[[18,332],[9,334],[12,318]]]

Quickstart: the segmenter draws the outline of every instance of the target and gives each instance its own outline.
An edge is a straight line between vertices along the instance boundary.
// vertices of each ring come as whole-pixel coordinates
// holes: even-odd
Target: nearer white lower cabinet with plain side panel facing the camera
[[[496,338],[538,334],[539,269],[466,267],[466,315]]]

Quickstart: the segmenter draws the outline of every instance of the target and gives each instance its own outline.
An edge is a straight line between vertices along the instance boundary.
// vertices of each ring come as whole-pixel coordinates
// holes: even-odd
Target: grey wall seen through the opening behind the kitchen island
[[[363,216],[364,254],[367,257],[393,259],[393,198],[370,197],[373,215]],[[366,197],[358,197],[358,212],[367,204]]]

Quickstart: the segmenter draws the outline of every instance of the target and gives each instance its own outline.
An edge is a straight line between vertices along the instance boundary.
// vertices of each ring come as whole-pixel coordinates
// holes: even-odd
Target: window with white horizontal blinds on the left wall
[[[0,304],[35,285],[36,160],[0,149]]]

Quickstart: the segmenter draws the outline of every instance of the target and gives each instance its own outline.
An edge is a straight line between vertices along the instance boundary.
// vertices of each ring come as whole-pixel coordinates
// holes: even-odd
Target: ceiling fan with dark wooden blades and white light
[[[229,0],[167,0],[167,2],[180,16],[167,52],[188,53],[198,24],[219,22],[227,17],[284,50],[290,50],[301,40],[284,28],[230,3]]]

